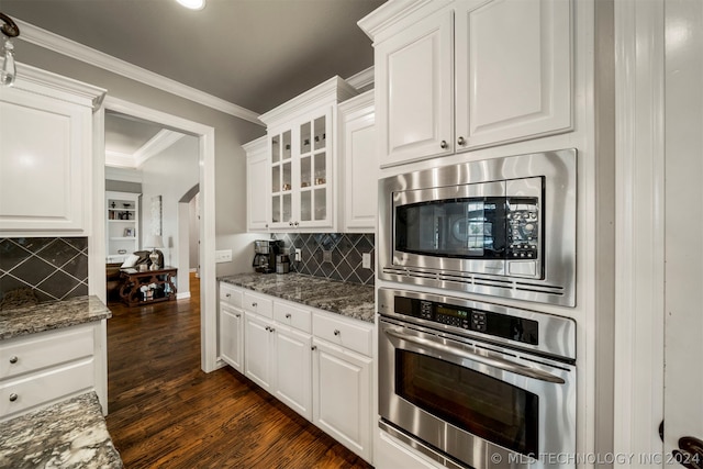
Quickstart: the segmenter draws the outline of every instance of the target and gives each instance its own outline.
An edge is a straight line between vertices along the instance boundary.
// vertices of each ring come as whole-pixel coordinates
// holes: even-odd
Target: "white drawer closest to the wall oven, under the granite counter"
[[[353,322],[354,321],[354,322]],[[359,324],[356,324],[359,323]],[[372,326],[344,317],[332,317],[315,312],[312,319],[313,335],[345,348],[372,356]]]

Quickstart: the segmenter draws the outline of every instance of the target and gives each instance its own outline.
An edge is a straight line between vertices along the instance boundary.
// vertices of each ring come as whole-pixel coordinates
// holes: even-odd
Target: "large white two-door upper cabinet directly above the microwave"
[[[391,0],[359,25],[381,166],[572,127],[570,0]]]

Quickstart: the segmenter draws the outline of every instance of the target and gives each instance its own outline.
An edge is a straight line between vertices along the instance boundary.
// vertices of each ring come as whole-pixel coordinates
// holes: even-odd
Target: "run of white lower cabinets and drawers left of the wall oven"
[[[372,462],[372,324],[221,283],[220,326],[225,362]]]

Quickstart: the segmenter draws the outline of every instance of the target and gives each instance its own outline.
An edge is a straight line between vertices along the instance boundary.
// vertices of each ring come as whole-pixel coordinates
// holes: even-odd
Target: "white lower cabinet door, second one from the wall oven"
[[[311,346],[309,334],[276,326],[276,392],[286,405],[312,420]]]

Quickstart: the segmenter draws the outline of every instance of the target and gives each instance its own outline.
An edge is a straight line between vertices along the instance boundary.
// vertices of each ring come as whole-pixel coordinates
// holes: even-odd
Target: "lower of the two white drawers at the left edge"
[[[0,383],[0,417],[94,387],[92,357]]]

